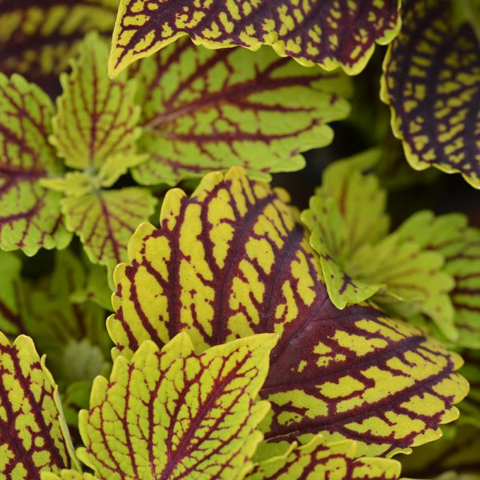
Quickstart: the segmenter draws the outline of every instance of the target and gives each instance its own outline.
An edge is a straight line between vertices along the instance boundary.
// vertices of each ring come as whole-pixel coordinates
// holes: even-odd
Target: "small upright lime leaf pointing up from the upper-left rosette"
[[[105,163],[139,158],[135,141],[140,108],[134,104],[136,86],[125,75],[112,81],[106,75],[108,46],[95,33],[82,42],[80,55],[71,63],[71,73],[60,76],[63,93],[57,99],[50,141],[65,164],[75,169],[99,170]],[[109,184],[117,177],[109,179]],[[112,176],[112,169],[110,169]]]

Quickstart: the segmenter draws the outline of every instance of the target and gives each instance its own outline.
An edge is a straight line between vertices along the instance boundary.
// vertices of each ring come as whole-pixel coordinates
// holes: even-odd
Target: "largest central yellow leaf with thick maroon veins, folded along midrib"
[[[115,355],[184,330],[201,350],[275,332],[260,396],[272,403],[262,428],[280,454],[317,433],[356,440],[359,456],[434,440],[468,390],[453,372],[461,359],[368,304],[336,309],[288,202],[240,169],[208,174],[191,198],[169,191],[161,228],[139,226],[130,263],[114,272]]]

